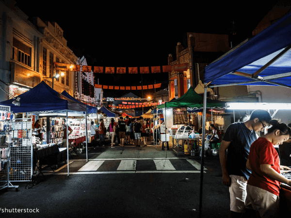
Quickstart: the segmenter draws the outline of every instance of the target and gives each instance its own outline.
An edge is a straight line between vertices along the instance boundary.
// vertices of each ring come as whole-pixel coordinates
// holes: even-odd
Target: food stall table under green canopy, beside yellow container
[[[187,149],[187,153],[191,153],[191,151],[189,150],[189,141],[193,141],[194,143],[194,155],[195,156],[199,156],[199,152],[200,152],[200,147],[199,147],[199,142],[201,140],[201,138],[194,138],[194,139],[189,139],[189,138],[177,138],[177,136],[172,136],[172,143],[173,143],[173,153],[177,154],[177,156],[179,156],[179,154],[185,154],[184,151],[184,142],[182,143],[182,145],[179,145],[179,140],[184,140],[186,141],[187,145],[188,145],[188,149]],[[179,149],[180,148],[180,149]]]

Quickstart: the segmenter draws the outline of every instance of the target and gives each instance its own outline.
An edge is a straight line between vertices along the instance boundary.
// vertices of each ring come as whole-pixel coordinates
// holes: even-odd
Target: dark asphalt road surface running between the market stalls
[[[105,148],[102,153],[94,150],[88,153],[88,162],[82,160],[84,155],[70,158],[70,165],[78,163],[78,167],[70,167],[69,176],[65,173],[66,166],[61,166],[54,173],[44,171],[45,177],[41,176],[40,183],[30,189],[25,189],[26,182],[14,183],[19,185],[19,191],[9,188],[0,192],[0,216],[198,217],[200,169],[188,160],[199,164],[201,157],[177,158],[167,151],[165,158],[161,146],[157,149],[153,146]],[[129,159],[136,161],[136,168],[120,168],[123,166],[121,162]],[[82,168],[100,160],[104,162],[97,169]],[[158,170],[159,161],[154,160],[170,162],[174,169]],[[228,188],[221,182],[219,158],[205,157],[204,166],[202,217],[226,218],[229,214],[229,194]],[[81,168],[85,170],[80,171]]]

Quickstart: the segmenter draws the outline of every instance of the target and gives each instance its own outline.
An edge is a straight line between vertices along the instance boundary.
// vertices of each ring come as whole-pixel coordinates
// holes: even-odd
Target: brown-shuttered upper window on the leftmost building
[[[32,48],[24,45],[22,42],[13,38],[13,60],[21,62],[27,66],[32,66],[31,64],[31,53]]]

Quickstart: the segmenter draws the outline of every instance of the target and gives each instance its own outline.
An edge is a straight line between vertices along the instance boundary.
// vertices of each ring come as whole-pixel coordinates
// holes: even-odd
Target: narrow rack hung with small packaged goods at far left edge
[[[11,135],[13,134],[12,123],[10,122],[13,118],[10,112],[10,107],[0,106],[1,117],[0,117],[0,189],[3,188],[16,188],[10,181],[10,158],[11,148],[13,146],[13,140]]]

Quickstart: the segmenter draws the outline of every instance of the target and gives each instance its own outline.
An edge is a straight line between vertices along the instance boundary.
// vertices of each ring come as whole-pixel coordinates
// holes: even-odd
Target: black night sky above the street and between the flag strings
[[[229,34],[233,42],[242,42],[252,36],[252,31],[277,0],[262,5],[247,2],[240,2],[243,5],[233,2],[232,5],[223,1],[169,4],[169,1],[164,1],[164,5],[160,2],[159,6],[153,3],[155,1],[93,1],[96,2],[93,4],[89,3],[92,1],[67,1],[65,4],[64,1],[50,0],[45,6],[40,2],[18,0],[16,5],[29,17],[38,16],[42,21],[57,22],[64,31],[67,46],[77,57],[84,56],[88,65],[140,67],[167,65],[169,54],[176,60],[177,43],[187,47],[187,32]],[[233,28],[235,36],[231,34]],[[168,81],[168,73],[97,75],[102,85],[142,85],[142,80],[146,85],[156,80],[165,88]],[[129,92],[108,91],[104,90],[104,96],[120,97]],[[144,97],[148,92],[144,91]]]

